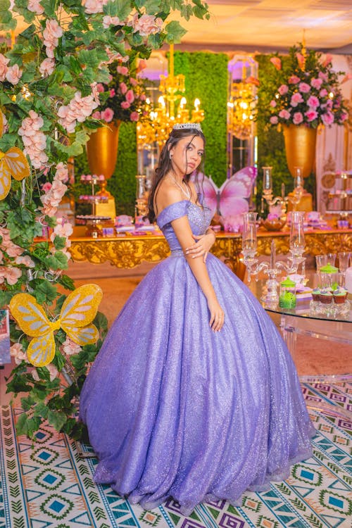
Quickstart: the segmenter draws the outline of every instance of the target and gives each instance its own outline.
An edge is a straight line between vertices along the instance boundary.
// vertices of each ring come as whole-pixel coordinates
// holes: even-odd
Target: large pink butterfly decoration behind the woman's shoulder
[[[249,198],[257,177],[255,167],[244,167],[225,180],[220,188],[207,176],[198,175],[199,183],[203,187],[204,205],[212,215],[220,214],[223,218],[242,215],[249,210]]]

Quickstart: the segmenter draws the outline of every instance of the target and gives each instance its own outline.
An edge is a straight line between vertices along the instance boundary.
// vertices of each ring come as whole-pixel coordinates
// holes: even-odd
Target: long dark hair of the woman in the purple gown
[[[196,136],[201,137],[203,139],[204,147],[206,146],[206,138],[204,137],[203,132],[197,128],[179,128],[175,129],[172,128],[172,131],[170,132],[170,136],[168,137],[167,142],[163,146],[163,149],[161,149],[161,154],[159,157],[158,166],[156,168],[155,174],[153,176],[153,181],[151,183],[151,190],[149,192],[149,199],[148,199],[148,218],[151,223],[155,222],[156,220],[156,212],[154,210],[154,197],[156,196],[156,193],[158,192],[158,187],[163,180],[163,177],[168,174],[170,170],[172,170],[172,160],[170,158],[170,150],[173,146],[177,145],[177,143],[180,141],[180,139],[183,139],[184,137],[192,136],[192,139],[189,143],[192,142],[193,138]],[[204,156],[202,156],[202,160],[200,165],[196,168],[196,175],[198,175],[198,172],[204,172]],[[191,174],[184,175],[184,182],[188,184]],[[198,177],[196,177],[195,180],[197,191],[200,191],[199,187],[199,180]]]

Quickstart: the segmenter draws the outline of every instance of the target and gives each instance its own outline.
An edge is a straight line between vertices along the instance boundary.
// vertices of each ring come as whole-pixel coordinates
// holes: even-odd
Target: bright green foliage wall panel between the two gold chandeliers
[[[206,136],[206,175],[217,185],[226,179],[226,111],[227,63],[225,54],[175,53],[175,75],[186,76],[186,96],[189,107],[194,99],[201,100],[205,118],[201,123]]]

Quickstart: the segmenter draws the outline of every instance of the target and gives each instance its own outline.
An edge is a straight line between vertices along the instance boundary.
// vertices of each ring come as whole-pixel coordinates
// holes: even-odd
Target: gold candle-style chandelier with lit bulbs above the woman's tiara
[[[148,118],[137,123],[138,141],[141,144],[156,142],[159,146],[165,143],[173,125],[182,122],[201,122],[204,112],[201,101],[194,100],[194,108],[189,111],[187,99],[182,96],[185,92],[184,75],[174,74],[174,46],[170,44],[169,75],[160,75],[159,91],[156,106],[147,99]],[[180,101],[180,102],[178,102]]]

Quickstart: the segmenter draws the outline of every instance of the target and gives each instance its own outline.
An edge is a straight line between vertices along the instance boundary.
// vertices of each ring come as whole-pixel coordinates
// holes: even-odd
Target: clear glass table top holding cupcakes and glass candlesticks
[[[284,277],[284,275],[282,275]],[[318,276],[315,273],[307,273],[308,283],[306,286],[314,288],[318,284]],[[282,278],[278,278],[277,282],[281,282]],[[263,297],[266,292],[266,282],[267,279],[259,279],[256,282],[255,279],[251,279],[251,282],[246,282],[245,284],[249,287],[251,292],[258,298]],[[277,287],[277,293],[279,293],[279,286]],[[296,308],[281,308],[279,304],[271,306],[267,303],[263,303],[263,308],[268,312],[278,313],[281,315],[291,315],[296,318],[308,318],[308,319],[318,319],[326,321],[335,321],[335,322],[352,322],[352,295],[348,294],[348,301],[345,301],[344,305],[329,303],[322,305],[319,303],[320,308],[324,310],[325,313],[317,313],[318,303],[317,301],[312,301],[311,299],[300,299],[296,301]],[[314,311],[313,311],[314,310]]]

